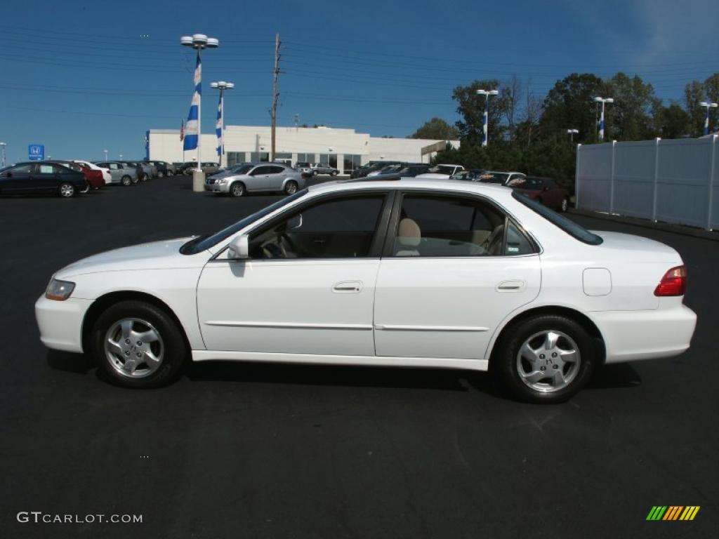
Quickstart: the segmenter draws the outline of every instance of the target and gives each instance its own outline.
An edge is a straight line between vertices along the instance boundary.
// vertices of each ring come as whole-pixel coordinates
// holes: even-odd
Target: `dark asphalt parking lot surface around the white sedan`
[[[687,354],[605,367],[564,405],[431,369],[208,363],[124,390],[40,343],[33,304],[55,270],[276,199],[196,194],[190,178],[0,198],[0,537],[717,536],[717,241],[572,216],[677,249],[699,323]],[[647,522],[654,505],[701,509]],[[24,524],[21,511],[142,523]]]

